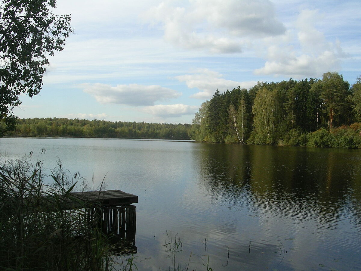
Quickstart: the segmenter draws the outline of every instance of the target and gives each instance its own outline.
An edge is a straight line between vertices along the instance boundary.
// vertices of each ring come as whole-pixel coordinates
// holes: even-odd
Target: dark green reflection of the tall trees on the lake
[[[326,212],[351,195],[360,200],[359,150],[248,145],[201,145],[201,182],[236,199],[244,189],[258,199],[318,202]],[[357,153],[356,153],[357,152]],[[358,182],[358,185],[355,185]],[[352,193],[350,193],[352,191]],[[359,208],[360,209],[360,208]]]

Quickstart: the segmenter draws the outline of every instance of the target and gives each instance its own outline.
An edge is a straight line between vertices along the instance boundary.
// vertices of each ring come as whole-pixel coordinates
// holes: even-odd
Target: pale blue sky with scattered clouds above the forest
[[[74,33],[20,118],[191,123],[216,89],[361,74],[360,0],[57,0]]]

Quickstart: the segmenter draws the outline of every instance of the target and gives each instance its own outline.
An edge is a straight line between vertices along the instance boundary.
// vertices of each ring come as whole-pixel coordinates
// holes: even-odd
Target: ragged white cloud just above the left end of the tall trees
[[[186,82],[190,89],[197,88],[201,90],[200,92],[191,95],[191,98],[202,100],[211,98],[216,89],[219,91],[225,91],[227,89],[232,90],[238,86],[240,86],[241,89],[249,89],[257,83],[255,81],[237,82],[226,80],[222,77],[222,74],[218,72],[214,72],[209,69],[199,69],[194,74],[185,74],[176,76],[175,78],[180,82]]]

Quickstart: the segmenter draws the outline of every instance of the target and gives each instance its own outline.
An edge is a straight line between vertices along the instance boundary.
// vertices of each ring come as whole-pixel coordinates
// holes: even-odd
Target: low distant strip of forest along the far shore
[[[7,136],[189,139],[190,124],[79,119],[17,119]]]

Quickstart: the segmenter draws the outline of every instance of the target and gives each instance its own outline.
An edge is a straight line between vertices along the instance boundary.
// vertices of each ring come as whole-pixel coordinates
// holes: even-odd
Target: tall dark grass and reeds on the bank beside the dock
[[[0,165],[0,270],[110,270],[107,238],[92,227],[97,218],[90,221],[90,206],[70,193],[82,179],[59,163],[49,185],[43,164],[31,159]]]

